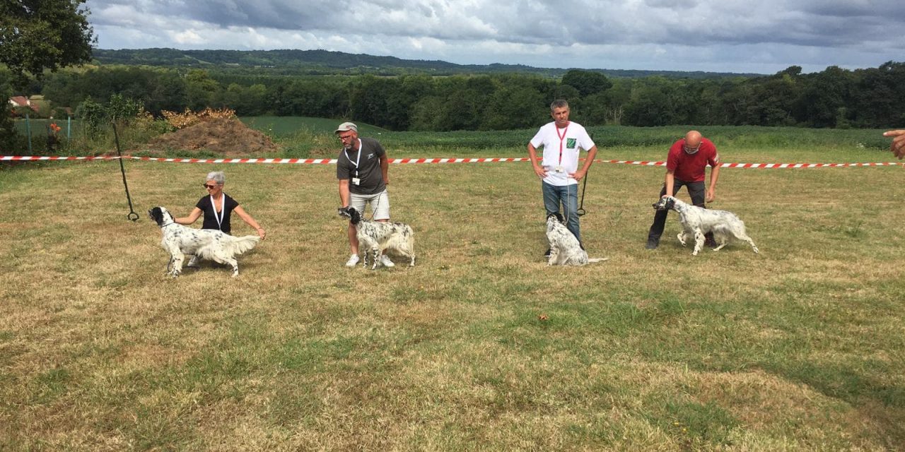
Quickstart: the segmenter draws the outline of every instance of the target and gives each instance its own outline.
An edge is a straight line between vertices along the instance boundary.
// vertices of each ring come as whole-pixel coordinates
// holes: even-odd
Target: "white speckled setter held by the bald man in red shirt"
[[[704,245],[704,234],[713,232],[713,238],[719,246],[714,251],[719,251],[729,243],[729,239],[746,240],[754,252],[757,252],[757,246],[754,240],[748,237],[745,231],[745,222],[736,216],[735,213],[726,211],[714,211],[704,209],[695,205],[681,202],[672,196],[664,196],[660,201],[653,203],[653,208],[658,211],[672,209],[679,212],[679,222],[681,222],[682,231],[679,232],[679,242],[681,246],[685,246],[685,240],[694,237],[694,251],[692,256],[697,256],[698,251]]]

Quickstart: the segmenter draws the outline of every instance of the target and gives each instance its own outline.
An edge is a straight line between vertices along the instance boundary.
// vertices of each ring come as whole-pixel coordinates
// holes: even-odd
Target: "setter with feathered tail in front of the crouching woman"
[[[148,216],[157,222],[164,234],[160,246],[170,253],[167,274],[173,278],[182,273],[182,262],[186,259],[186,254],[192,254],[197,259],[229,264],[233,267],[233,277],[237,277],[239,263],[235,257],[251,250],[261,240],[256,235],[233,237],[223,231],[188,228],[173,221],[173,215],[163,207],[150,209]]]

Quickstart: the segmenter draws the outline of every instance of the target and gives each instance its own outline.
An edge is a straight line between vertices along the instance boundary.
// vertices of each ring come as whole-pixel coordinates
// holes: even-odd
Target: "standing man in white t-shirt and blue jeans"
[[[587,169],[594,162],[597,146],[587,135],[585,127],[568,120],[568,102],[563,99],[554,100],[550,104],[550,116],[553,122],[540,127],[538,134],[528,143],[528,155],[534,174],[543,181],[541,193],[544,195],[544,208],[547,214],[558,213],[562,204],[563,217],[567,219],[566,227],[571,231],[578,243],[581,235],[578,225],[578,181],[587,174]],[[538,165],[537,150],[544,148],[543,162]],[[578,169],[578,153],[587,151],[585,165]],[[584,248],[584,247],[582,247]],[[547,250],[549,255],[550,250]]]

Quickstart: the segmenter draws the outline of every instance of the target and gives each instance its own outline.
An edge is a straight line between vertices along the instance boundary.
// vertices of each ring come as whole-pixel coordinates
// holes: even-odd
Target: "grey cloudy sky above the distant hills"
[[[905,61],[902,0],[88,0],[101,49],[775,73]]]

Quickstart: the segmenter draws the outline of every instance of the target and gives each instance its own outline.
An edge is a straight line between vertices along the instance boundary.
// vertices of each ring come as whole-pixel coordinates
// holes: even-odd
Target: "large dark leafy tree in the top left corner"
[[[0,2],[0,62],[22,86],[26,72],[43,71],[90,61],[97,42],[88,24],[86,0],[4,0]]]

